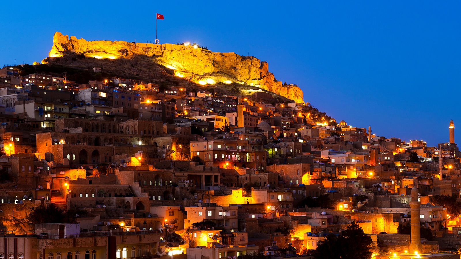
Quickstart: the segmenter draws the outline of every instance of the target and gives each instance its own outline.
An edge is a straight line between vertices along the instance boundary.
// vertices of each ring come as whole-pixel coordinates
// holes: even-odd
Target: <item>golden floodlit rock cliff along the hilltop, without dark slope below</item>
[[[268,71],[267,62],[235,53],[218,53],[200,47],[176,44],[131,43],[126,41],[86,41],[56,32],[49,57],[66,53],[84,54],[97,59],[130,58],[146,55],[167,68],[177,77],[205,85],[218,82],[238,82],[253,85],[275,94],[303,102],[303,93],[296,85],[283,85]]]

